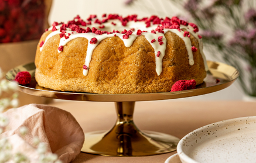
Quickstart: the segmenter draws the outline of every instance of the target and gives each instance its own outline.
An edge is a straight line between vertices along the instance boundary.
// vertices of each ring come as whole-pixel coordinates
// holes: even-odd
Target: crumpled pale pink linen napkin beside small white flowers
[[[23,140],[33,146],[33,138],[38,137],[41,142],[47,144],[47,151],[57,154],[63,163],[73,161],[83,147],[83,130],[76,119],[65,110],[47,105],[30,104],[9,109],[4,115],[9,118],[9,124],[0,137],[12,136],[11,138],[17,139],[13,135],[21,135],[19,130],[22,126],[26,126],[29,131],[25,136],[21,136]],[[28,148],[25,146],[21,145],[19,150]],[[36,148],[34,149],[36,151]],[[33,155],[35,152],[29,153],[32,153],[31,157],[35,157]]]

